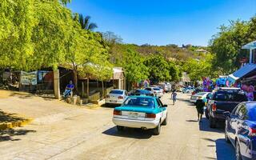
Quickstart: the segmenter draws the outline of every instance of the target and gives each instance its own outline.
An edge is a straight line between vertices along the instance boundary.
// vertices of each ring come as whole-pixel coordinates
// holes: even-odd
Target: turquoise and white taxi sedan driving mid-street
[[[118,130],[124,127],[153,130],[158,135],[161,125],[167,124],[167,105],[157,97],[130,96],[122,106],[114,108],[112,121]]]

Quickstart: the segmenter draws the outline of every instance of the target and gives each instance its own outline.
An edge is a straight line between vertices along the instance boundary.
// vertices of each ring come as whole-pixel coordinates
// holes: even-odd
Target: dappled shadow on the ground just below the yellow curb
[[[26,135],[30,132],[36,132],[35,130],[23,130],[23,129],[8,129],[0,130],[0,142],[4,141],[19,141],[20,138],[14,138],[14,136]]]

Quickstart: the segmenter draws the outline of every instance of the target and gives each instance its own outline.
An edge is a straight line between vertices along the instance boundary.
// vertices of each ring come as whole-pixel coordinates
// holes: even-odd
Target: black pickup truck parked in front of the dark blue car
[[[246,102],[246,94],[240,89],[220,88],[214,92],[213,98],[209,100],[206,106],[206,118],[209,118],[210,127],[215,128],[218,122],[225,122],[225,111],[234,110],[240,102]]]

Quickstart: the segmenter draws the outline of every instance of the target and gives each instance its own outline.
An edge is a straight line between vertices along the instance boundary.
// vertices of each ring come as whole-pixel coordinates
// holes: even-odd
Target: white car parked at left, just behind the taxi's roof
[[[111,90],[110,94],[106,95],[105,105],[122,105],[127,96],[128,93],[126,90]]]

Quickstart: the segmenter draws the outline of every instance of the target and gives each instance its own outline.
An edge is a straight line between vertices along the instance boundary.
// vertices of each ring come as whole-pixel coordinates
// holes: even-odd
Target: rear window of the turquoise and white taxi
[[[154,98],[130,97],[126,98],[122,106],[154,108]]]

